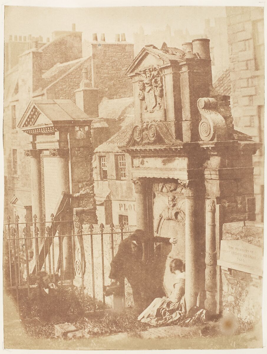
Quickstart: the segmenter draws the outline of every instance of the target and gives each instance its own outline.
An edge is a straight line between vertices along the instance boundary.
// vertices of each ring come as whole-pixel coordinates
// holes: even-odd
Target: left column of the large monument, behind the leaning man
[[[147,182],[144,178],[133,180],[136,193],[136,227],[143,230],[147,242],[143,244],[143,261],[148,259],[148,213],[147,213]]]

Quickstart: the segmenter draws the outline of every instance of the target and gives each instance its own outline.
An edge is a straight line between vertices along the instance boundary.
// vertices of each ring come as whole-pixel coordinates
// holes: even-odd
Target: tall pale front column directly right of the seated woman
[[[186,311],[196,306],[198,296],[198,239],[196,225],[195,182],[186,181],[185,186],[185,301]]]

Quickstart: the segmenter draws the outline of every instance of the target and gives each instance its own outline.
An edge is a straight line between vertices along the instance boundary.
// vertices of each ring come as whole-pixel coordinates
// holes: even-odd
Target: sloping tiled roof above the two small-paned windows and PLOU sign
[[[95,153],[103,152],[120,152],[119,146],[125,145],[132,133],[134,127],[134,120],[129,117],[128,121],[124,120],[123,127],[106,142],[95,148]]]

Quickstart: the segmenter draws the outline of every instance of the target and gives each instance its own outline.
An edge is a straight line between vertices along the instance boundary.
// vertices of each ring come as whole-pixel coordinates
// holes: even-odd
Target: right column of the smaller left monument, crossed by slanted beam
[[[58,159],[59,165],[59,175],[57,176],[57,186],[61,192],[70,193],[70,183],[69,183],[69,160],[68,160],[69,149],[52,149],[49,151],[50,156]],[[59,215],[55,215],[56,221],[60,220]],[[63,213],[61,218],[63,220],[71,220],[71,216]],[[71,279],[73,276],[72,272],[72,238],[71,236],[65,236],[68,234],[69,230],[65,223],[60,223],[60,232],[63,236],[62,246],[63,246],[63,268],[64,268],[64,279]]]

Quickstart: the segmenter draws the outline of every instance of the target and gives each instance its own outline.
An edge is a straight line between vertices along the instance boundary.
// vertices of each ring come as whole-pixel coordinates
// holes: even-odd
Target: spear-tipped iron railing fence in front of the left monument
[[[42,270],[47,272],[50,282],[58,282],[60,285],[72,284],[77,273],[81,281],[82,306],[85,308],[85,248],[89,245],[87,253],[87,263],[90,267],[90,277],[92,284],[89,288],[89,295],[92,297],[93,312],[96,311],[96,271],[99,272],[99,262],[95,265],[95,239],[97,244],[101,243],[101,277],[102,287],[105,285],[105,265],[104,265],[104,241],[109,237],[108,242],[111,259],[114,258],[115,247],[114,238],[119,238],[119,242],[128,235],[132,234],[134,227],[125,227],[123,223],[115,227],[114,224],[105,227],[100,225],[87,225],[88,232],[81,229],[79,234],[75,233],[73,220],[56,221],[54,215],[51,215],[50,221],[38,221],[36,215],[33,221],[19,221],[16,217],[15,223],[11,223],[11,218],[7,217],[7,223],[4,224],[4,289],[12,291],[16,296],[17,309],[21,306],[21,293],[27,294],[30,298],[31,288],[37,286],[37,273]],[[99,232],[94,232],[99,229]],[[107,230],[108,229],[108,230]],[[131,230],[132,229],[132,230]],[[79,239],[79,240],[78,240]],[[77,259],[77,240],[79,241],[79,257]],[[106,244],[105,244],[106,245]],[[75,253],[76,252],[76,253]],[[88,260],[88,255],[90,259]],[[98,261],[98,257],[97,257]],[[88,285],[88,284],[86,284]],[[97,285],[99,287],[99,284]],[[99,290],[99,289],[98,289]],[[105,306],[105,295],[103,289],[103,306]],[[88,293],[88,291],[87,291]],[[26,295],[25,294],[25,295]],[[25,300],[25,296],[24,296]],[[123,304],[125,306],[125,293],[123,291]]]

